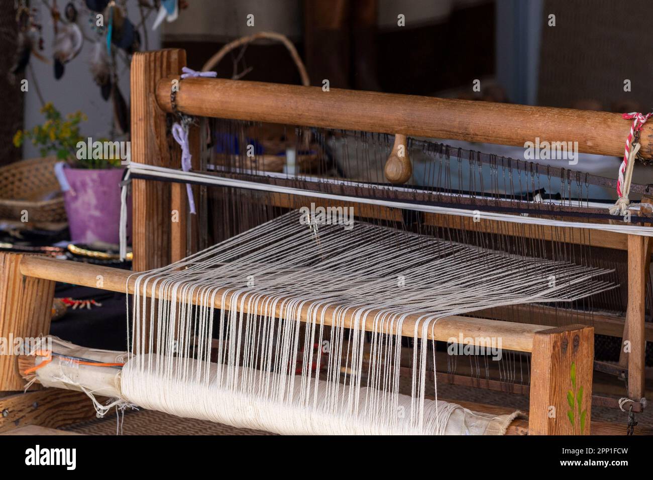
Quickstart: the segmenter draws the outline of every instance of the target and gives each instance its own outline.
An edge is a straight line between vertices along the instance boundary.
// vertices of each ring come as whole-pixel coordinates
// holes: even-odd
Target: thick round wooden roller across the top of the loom
[[[162,79],[156,89],[157,102],[166,112],[171,111],[172,78]],[[580,152],[616,157],[624,155],[632,123],[609,112],[336,88],[323,91],[320,87],[222,78],[188,78],[177,104],[189,115],[391,135],[514,146],[539,137],[540,142],[578,142]],[[643,157],[653,156],[652,137],[653,125],[646,123],[641,133]]]

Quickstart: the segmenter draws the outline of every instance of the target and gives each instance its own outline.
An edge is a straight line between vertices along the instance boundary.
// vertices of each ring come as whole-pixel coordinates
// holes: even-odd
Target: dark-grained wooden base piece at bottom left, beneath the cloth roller
[[[99,402],[106,398],[98,397]],[[85,393],[71,390],[42,389],[0,397],[0,432],[27,425],[59,428],[97,417],[93,402]]]

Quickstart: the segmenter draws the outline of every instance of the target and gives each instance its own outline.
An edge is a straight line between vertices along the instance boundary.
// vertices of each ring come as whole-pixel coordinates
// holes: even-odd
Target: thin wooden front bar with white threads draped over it
[[[46,278],[48,280],[55,281],[65,281],[68,283],[74,283],[76,285],[96,287],[97,286],[97,275],[103,277],[103,289],[110,291],[118,292],[134,292],[134,285],[136,283],[136,276],[127,270],[121,270],[119,268],[110,268],[108,266],[99,266],[91,265],[85,263],[77,263],[65,260],[56,260],[56,259],[46,259],[46,258],[37,258],[32,257],[25,259],[21,263],[21,272],[27,276],[34,276],[38,278]],[[131,276],[131,278],[130,278]],[[149,297],[158,298],[157,295],[159,291],[157,289],[151,289],[151,282],[148,282],[148,288],[145,295]],[[232,296],[234,289],[229,289],[229,293],[225,296],[224,303],[222,302],[222,292],[221,289],[215,295],[215,308],[224,308],[230,310],[232,308]],[[169,291],[167,295],[172,295]],[[198,304],[202,297],[201,289],[194,289],[193,291],[193,303]],[[263,314],[263,304],[264,296],[260,297],[260,301],[256,302],[257,305],[255,308],[255,313]],[[240,303],[240,302],[239,302]],[[247,307],[247,302],[244,302],[245,305],[242,308],[243,312],[249,312]],[[284,313],[282,310],[283,302],[276,302],[276,310],[274,315],[276,317],[283,317]],[[334,312],[337,306],[325,306],[325,324],[331,325]],[[234,308],[239,308],[234,306]],[[301,319],[301,321],[308,321],[310,305],[306,304],[299,312],[296,312],[296,315]],[[254,313],[254,311],[252,311]],[[318,315],[321,315],[321,311],[318,312]],[[375,311],[372,311],[368,314],[364,328],[366,330],[374,330]],[[415,334],[415,325],[421,319],[419,312],[415,312],[411,315],[407,315],[404,319],[401,327],[401,334],[404,336],[412,337]],[[347,313],[343,318],[338,319],[342,322],[343,327],[348,328],[354,325],[356,322],[354,313]],[[423,320],[422,320],[423,321]],[[489,337],[500,337],[502,340],[502,347],[507,350],[517,350],[517,351],[531,351],[533,347],[533,338],[535,332],[540,330],[545,330],[548,327],[543,327],[541,325],[524,325],[521,323],[513,322],[503,322],[498,320],[488,320],[488,319],[477,319],[471,317],[462,317],[459,315],[452,315],[451,317],[446,317],[438,320],[434,327],[429,328],[428,338],[432,340],[441,340],[447,342],[450,338],[458,338],[460,334],[464,338],[471,339],[484,339]],[[388,333],[396,333],[394,330],[387,330]],[[481,340],[479,340],[480,342]]]

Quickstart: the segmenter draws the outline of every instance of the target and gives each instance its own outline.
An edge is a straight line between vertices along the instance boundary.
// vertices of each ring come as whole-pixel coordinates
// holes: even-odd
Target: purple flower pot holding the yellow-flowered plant
[[[122,168],[64,168],[71,189],[64,194],[72,242],[119,243]],[[131,198],[127,199],[127,241],[131,240]]]

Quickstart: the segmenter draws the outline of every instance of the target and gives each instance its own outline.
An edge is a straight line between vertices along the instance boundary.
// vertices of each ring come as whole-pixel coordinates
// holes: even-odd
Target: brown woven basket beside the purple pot
[[[0,168],[0,218],[18,220],[27,210],[29,221],[65,222],[63,193],[54,175],[56,157],[35,158]]]

